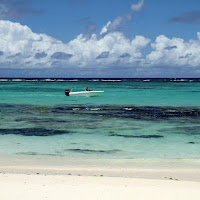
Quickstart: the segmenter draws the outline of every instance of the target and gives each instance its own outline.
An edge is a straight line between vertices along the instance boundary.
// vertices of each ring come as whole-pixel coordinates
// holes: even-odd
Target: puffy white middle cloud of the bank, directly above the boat
[[[83,35],[79,35],[68,45],[73,55],[75,55],[72,60],[76,59],[82,66],[98,64],[100,67],[108,67],[125,53],[130,54],[128,58],[129,64],[133,64],[134,57],[141,57],[141,50],[145,48],[149,42],[150,40],[143,36],[136,36],[130,41],[122,33],[113,32],[100,39],[98,39],[97,35],[93,35],[89,40],[86,40]],[[101,58],[104,56],[104,59],[96,59],[97,57]]]

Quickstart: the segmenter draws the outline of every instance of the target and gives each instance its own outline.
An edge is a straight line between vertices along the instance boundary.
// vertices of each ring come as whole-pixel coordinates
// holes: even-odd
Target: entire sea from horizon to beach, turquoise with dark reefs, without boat
[[[65,89],[104,90],[100,97]],[[197,79],[2,80],[0,155],[199,159]]]

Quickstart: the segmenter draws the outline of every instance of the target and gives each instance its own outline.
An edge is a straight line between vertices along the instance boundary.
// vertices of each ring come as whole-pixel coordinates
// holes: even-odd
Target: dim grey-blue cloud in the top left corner
[[[34,10],[30,0],[0,0],[0,19],[20,19],[27,14],[41,14]]]

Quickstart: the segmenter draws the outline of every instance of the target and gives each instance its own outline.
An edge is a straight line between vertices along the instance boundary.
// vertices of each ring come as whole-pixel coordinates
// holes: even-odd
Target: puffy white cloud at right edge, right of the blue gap
[[[153,51],[146,57],[150,66],[198,67],[200,65],[199,38],[185,42],[181,38],[169,39],[160,35],[151,46]]]

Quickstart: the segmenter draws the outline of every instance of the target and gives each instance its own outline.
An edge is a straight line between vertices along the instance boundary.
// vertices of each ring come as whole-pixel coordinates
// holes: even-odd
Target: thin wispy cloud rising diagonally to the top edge
[[[136,12],[139,12],[144,5],[144,0],[140,0],[137,4],[131,4],[130,12],[125,15],[117,16],[113,22],[109,21],[101,30],[100,34],[105,36],[108,33],[120,31],[120,29],[133,18]]]

